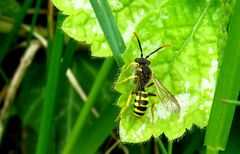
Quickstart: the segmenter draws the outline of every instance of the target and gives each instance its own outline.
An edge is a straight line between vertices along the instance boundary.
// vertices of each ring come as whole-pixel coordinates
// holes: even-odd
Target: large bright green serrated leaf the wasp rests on
[[[137,119],[133,115],[132,96],[130,106],[120,120],[119,133],[123,142],[144,142],[162,133],[173,140],[182,136],[193,123],[201,128],[207,125],[218,65],[220,17],[219,2],[181,0],[164,3],[141,20],[136,32],[144,56],[161,45],[171,45],[149,60],[153,73],[177,98],[181,112],[171,114],[161,102],[156,103],[152,124],[151,105],[155,98],[150,97],[146,115]],[[134,83],[120,81],[132,75],[134,67],[127,66],[136,57],[140,57],[140,50],[133,38],[123,56],[126,64],[116,85],[123,93],[118,101],[121,108],[126,107]],[[154,86],[147,90],[157,94]]]

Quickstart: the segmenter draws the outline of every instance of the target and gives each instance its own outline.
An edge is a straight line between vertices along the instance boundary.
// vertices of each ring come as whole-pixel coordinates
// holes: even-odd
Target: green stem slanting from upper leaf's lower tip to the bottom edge
[[[89,112],[91,111],[93,104],[96,102],[96,99],[97,99],[96,96],[101,90],[102,85],[105,82],[106,77],[112,68],[113,62],[114,62],[114,59],[112,57],[105,59],[98,73],[96,81],[94,82],[94,85],[90,91],[88,100],[84,105],[81,113],[79,114],[77,122],[66,142],[66,145],[63,149],[63,154],[71,153],[73,147],[76,145],[77,138],[79,137],[79,134],[84,127],[84,123],[87,119],[87,116],[89,115]]]

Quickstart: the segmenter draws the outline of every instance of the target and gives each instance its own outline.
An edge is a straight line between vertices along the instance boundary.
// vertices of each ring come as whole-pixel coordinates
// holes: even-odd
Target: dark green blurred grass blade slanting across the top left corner
[[[9,35],[7,36],[5,43],[3,43],[2,48],[0,49],[0,51],[1,51],[0,52],[0,66],[2,65],[2,61],[7,54],[12,41],[16,37],[16,33],[17,33],[18,29],[20,28],[21,23],[26,15],[26,12],[27,12],[28,8],[30,7],[30,5],[32,4],[32,2],[33,2],[32,0],[25,0],[19,14],[16,16],[15,22],[13,24],[13,28],[12,28],[11,32],[9,33]]]

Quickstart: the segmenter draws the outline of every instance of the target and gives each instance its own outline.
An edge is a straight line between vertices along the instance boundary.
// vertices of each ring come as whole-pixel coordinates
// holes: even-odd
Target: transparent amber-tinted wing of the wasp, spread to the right
[[[156,78],[154,74],[152,74],[152,80],[157,89],[161,103],[163,103],[170,112],[179,113],[180,105],[173,94],[167,90],[167,88]]]

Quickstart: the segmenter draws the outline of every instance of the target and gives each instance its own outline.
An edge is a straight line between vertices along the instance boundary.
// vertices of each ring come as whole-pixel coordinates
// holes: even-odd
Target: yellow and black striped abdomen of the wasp
[[[134,100],[134,115],[137,118],[142,117],[147,111],[148,107],[148,93],[145,91],[138,91]]]

